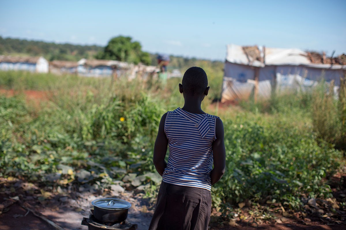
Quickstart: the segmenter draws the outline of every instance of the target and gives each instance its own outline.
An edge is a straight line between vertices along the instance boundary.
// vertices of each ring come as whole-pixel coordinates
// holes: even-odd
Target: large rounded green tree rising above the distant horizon
[[[126,61],[138,64],[151,64],[150,55],[142,51],[142,46],[138,41],[132,41],[131,37],[118,36],[112,38],[103,52],[99,52],[96,56],[98,59],[109,59]]]

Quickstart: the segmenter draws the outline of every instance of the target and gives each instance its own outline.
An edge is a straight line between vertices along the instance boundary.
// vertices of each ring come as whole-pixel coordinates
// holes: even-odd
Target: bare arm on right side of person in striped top
[[[224,124],[220,118],[216,119],[215,127],[216,140],[213,142],[213,160],[214,168],[211,170],[211,185],[218,182],[225,173],[226,167],[226,149],[224,142]]]

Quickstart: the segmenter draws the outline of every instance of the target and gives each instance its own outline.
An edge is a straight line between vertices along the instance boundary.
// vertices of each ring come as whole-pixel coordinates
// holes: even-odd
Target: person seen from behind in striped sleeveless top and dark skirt
[[[224,174],[226,158],[221,119],[201,109],[209,88],[204,70],[189,68],[179,84],[183,108],[161,118],[153,162],[162,183],[149,230],[208,229],[210,189]]]

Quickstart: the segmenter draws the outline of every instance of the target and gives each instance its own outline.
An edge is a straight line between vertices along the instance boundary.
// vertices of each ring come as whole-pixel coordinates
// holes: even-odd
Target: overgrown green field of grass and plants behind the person
[[[162,114],[183,106],[180,81],[0,72],[0,177],[51,192],[104,190],[122,180],[155,197],[161,179],[153,144]],[[210,92],[218,93],[202,103],[225,127],[227,169],[212,188],[213,207],[230,219],[244,207],[266,204],[271,216],[303,211],[306,199],[331,199],[338,208],[328,201],[327,217],[345,211],[345,197],[335,197],[345,190],[345,97],[336,100],[321,87],[227,106],[212,103],[221,90],[222,80],[216,82]]]

